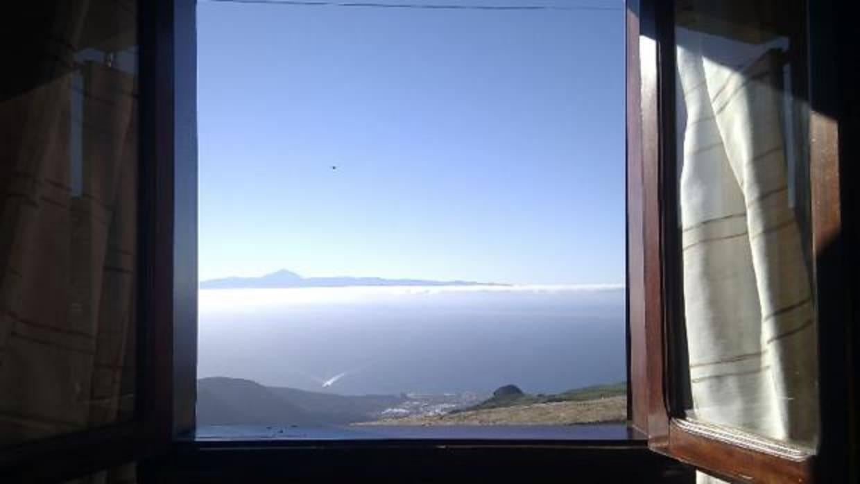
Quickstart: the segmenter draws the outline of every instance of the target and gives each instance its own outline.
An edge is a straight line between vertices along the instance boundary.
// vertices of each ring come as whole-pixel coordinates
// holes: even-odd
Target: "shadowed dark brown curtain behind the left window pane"
[[[4,60],[26,83],[0,95],[0,446],[133,411],[135,80],[76,59],[104,4],[35,3]]]

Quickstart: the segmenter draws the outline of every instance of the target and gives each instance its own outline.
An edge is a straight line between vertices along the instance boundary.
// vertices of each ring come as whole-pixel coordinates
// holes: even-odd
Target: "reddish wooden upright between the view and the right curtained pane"
[[[668,436],[668,408],[666,399],[666,366],[664,355],[664,291],[663,291],[663,239],[660,206],[660,154],[662,119],[660,104],[660,43],[659,31],[662,8],[654,0],[638,3],[638,38],[632,41],[631,51],[638,50],[639,78],[629,78],[628,94],[638,97],[639,126],[629,132],[629,143],[639,144],[639,150],[628,151],[630,177],[630,211],[638,207],[638,217],[630,217],[630,331],[631,372],[634,382],[644,388],[645,394],[635,395],[635,402],[644,407],[635,408],[640,414],[635,420],[648,434],[652,449],[665,451]],[[630,52],[628,52],[630,56]],[[629,62],[630,62],[629,57]],[[638,96],[634,89],[638,89]],[[632,100],[629,100],[629,109]],[[636,113],[634,113],[636,114]],[[630,112],[628,113],[630,117]],[[630,123],[630,120],[629,120]],[[636,223],[636,226],[633,224]],[[639,238],[641,237],[641,239]],[[638,312],[634,312],[634,309]],[[642,363],[644,362],[644,365]],[[637,401],[636,399],[642,399]],[[642,414],[645,416],[642,417]]]

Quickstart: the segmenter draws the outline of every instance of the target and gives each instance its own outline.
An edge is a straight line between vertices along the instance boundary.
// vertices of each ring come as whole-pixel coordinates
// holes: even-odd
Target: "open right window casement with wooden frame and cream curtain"
[[[701,481],[855,472],[838,20],[829,2],[628,2],[632,422]]]

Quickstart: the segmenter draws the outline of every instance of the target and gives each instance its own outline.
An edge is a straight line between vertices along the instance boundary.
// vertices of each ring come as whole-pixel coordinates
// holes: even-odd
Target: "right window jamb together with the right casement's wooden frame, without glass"
[[[852,199],[847,190],[857,181],[857,168],[839,162],[857,154],[857,137],[846,136],[857,134],[857,95],[851,91],[857,75],[848,69],[857,40],[848,38],[845,19],[851,16],[841,8],[807,3],[811,215],[820,402],[826,413],[819,449],[810,458],[795,455],[789,446],[683,418],[674,377],[681,361],[674,350],[683,341],[677,304],[674,2],[628,1],[631,422],[648,435],[652,450],[729,481],[848,482],[857,476],[857,415],[851,410],[857,374],[851,322],[857,322],[857,308],[850,297],[852,290],[857,294],[857,273],[851,270],[857,255],[847,250],[858,240],[857,224],[848,216],[857,214],[857,195]]]

